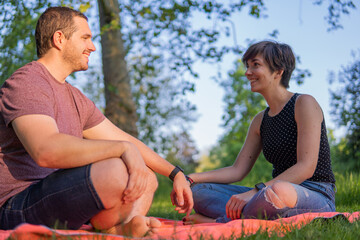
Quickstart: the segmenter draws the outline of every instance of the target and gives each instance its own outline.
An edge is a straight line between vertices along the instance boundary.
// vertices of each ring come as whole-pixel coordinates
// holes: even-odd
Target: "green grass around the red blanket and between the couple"
[[[267,168],[267,166],[265,167]],[[267,169],[266,169],[267,170]],[[252,186],[256,179],[262,179],[265,169],[257,169],[250,180],[242,184]],[[256,172],[258,176],[256,177]],[[360,211],[360,173],[335,172],[336,177],[336,211]],[[184,214],[178,214],[170,201],[172,184],[168,178],[159,176],[159,188],[155,194],[149,216],[180,220]],[[234,238],[235,239],[235,238]],[[285,236],[276,234],[268,236],[266,233],[257,233],[243,239],[360,239],[360,221],[349,223],[346,219],[315,220],[301,229],[294,229]]]

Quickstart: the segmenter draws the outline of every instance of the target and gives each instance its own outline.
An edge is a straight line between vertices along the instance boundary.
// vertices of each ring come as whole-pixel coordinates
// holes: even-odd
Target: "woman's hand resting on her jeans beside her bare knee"
[[[245,193],[231,196],[226,204],[226,216],[232,220],[239,219],[244,206],[251,200],[256,192],[257,191],[253,189]]]

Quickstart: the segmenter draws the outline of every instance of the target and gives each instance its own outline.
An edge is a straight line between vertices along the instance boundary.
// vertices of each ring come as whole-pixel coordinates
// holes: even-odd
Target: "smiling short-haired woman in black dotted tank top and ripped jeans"
[[[196,183],[196,214],[185,217],[185,224],[335,211],[335,178],[322,110],[312,96],[287,90],[295,68],[291,48],[262,41],[250,46],[243,62],[251,91],[260,93],[269,107],[252,120],[232,166],[189,175]],[[254,188],[227,185],[244,179],[261,151],[273,164],[273,179]]]

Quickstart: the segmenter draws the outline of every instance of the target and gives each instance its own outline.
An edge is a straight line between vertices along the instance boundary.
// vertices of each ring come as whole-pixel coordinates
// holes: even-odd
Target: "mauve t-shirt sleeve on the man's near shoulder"
[[[0,110],[6,126],[15,118],[29,114],[43,114],[54,118],[54,98],[51,86],[42,76],[18,71],[1,90]]]

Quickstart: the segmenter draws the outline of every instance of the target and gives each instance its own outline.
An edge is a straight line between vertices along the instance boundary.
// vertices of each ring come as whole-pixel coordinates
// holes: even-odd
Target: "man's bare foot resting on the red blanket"
[[[106,230],[106,233],[129,237],[152,236],[158,232],[160,226],[161,222],[156,218],[138,215],[133,217],[128,223],[119,224]]]

